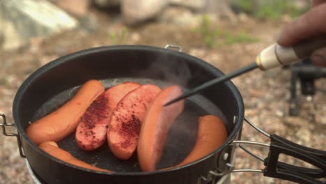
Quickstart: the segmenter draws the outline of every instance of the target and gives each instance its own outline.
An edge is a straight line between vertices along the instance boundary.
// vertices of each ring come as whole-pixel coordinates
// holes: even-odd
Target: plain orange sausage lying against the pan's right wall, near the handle
[[[194,148],[192,148],[192,151],[183,162],[174,167],[180,167],[205,157],[221,146],[227,138],[228,133],[221,118],[213,115],[201,116],[199,118],[199,129]]]

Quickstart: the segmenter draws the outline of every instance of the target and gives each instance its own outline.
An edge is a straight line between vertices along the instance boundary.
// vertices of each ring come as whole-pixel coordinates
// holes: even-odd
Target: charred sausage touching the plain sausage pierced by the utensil
[[[112,112],[107,132],[109,148],[116,157],[127,160],[137,148],[143,117],[161,89],[152,84],[142,85],[118,102]]]

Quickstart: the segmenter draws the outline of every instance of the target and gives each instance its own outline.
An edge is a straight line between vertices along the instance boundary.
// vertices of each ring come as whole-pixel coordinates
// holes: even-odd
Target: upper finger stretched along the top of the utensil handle
[[[294,22],[286,24],[277,40],[279,45],[288,47],[300,40],[326,33],[326,3],[320,4],[300,16]]]

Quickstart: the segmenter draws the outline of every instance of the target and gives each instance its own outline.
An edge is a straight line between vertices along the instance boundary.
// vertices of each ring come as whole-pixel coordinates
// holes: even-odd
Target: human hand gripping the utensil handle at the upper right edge
[[[326,33],[326,0],[312,0],[312,8],[286,24],[277,40],[279,45],[290,47],[301,40]],[[318,66],[326,66],[326,47],[311,54],[311,61]]]

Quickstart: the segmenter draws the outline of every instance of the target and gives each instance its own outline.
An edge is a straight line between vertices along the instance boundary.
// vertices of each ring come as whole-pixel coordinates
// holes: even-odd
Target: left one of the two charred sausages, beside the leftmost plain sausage
[[[77,126],[75,139],[81,149],[93,151],[104,144],[114,108],[127,93],[139,86],[140,84],[135,82],[123,82],[107,89],[96,98]]]

